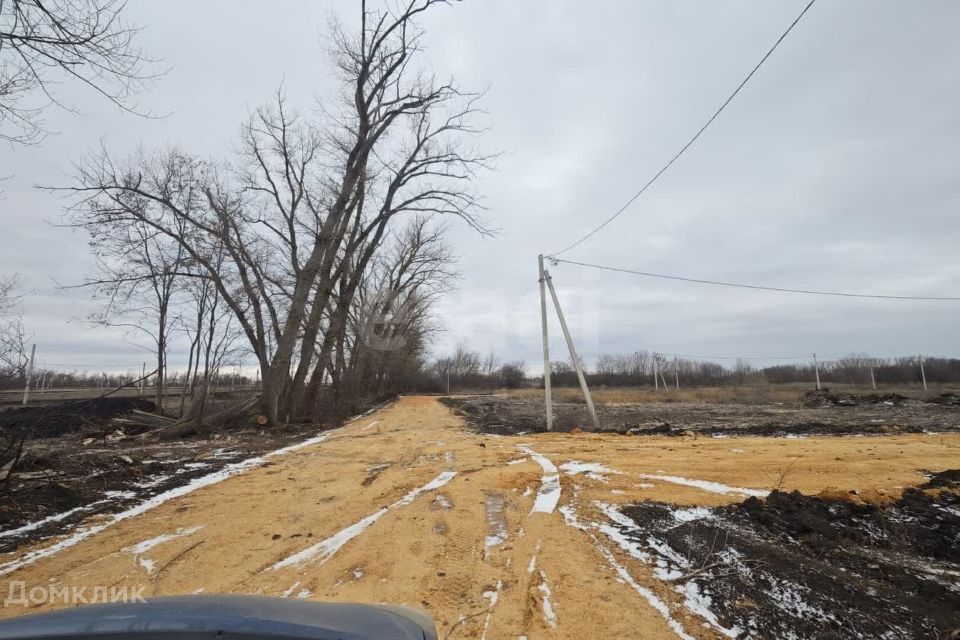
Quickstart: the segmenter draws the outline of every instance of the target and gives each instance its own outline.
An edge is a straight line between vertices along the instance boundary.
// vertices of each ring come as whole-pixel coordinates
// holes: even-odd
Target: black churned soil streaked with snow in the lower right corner
[[[908,489],[875,507],[773,492],[689,522],[675,509],[626,507],[636,527],[621,531],[652,552],[668,545],[675,554],[656,554],[661,567],[694,582],[724,627],[760,638],[960,634],[954,493]]]

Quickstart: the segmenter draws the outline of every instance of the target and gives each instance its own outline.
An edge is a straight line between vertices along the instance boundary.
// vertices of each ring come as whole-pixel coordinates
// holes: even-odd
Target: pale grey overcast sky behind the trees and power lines
[[[536,256],[616,211],[719,106],[805,2],[467,0],[434,10],[429,64],[488,89],[481,239],[453,225],[463,274],[440,307],[458,341],[540,367]],[[91,260],[56,228],[66,184],[101,140],[225,157],[282,82],[304,111],[337,91],[321,36],[359,3],[132,0],[143,48],[170,71],[140,97],[163,119],[89,91],[58,94],[42,146],[0,148],[0,271],[19,271],[38,362],[139,369],[89,327],[89,296],[58,290]],[[600,234],[564,257],[689,277],[893,295],[960,295],[960,3],[821,0],[703,137]],[[960,303],[819,298],[550,267],[583,355],[960,355]],[[552,350],[563,355],[554,323]],[[171,354],[171,365],[185,360]]]

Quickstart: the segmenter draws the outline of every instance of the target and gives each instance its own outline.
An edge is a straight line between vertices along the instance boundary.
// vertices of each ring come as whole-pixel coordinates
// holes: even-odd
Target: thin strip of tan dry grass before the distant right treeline
[[[767,384],[754,386],[729,387],[693,387],[689,389],[674,389],[655,391],[649,387],[600,387],[593,388],[593,399],[603,404],[643,404],[649,402],[699,402],[704,404],[797,404],[803,394],[812,389],[811,385],[804,384]],[[831,391],[867,394],[874,393],[870,388],[854,385],[830,385]],[[876,393],[899,393],[911,398],[935,396],[946,387],[931,385],[930,391],[924,393],[920,387],[891,386],[881,387]],[[542,389],[505,389],[502,393],[520,398],[541,398]],[[553,397],[558,402],[583,402],[579,388],[554,388]]]

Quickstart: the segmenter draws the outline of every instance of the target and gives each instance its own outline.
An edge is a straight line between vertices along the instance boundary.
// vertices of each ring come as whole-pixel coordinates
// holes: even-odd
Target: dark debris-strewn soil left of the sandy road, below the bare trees
[[[365,403],[365,408],[370,406]],[[132,409],[152,408],[153,403],[138,398],[104,398],[0,412],[0,444],[6,442],[0,446],[0,467],[14,458],[20,436],[27,437],[9,477],[0,479],[0,552],[62,533],[92,515],[122,511],[323,428],[247,426],[158,441],[150,434],[125,433],[111,423]],[[341,420],[331,417],[328,422],[326,427]],[[12,533],[70,510],[62,519]]]

